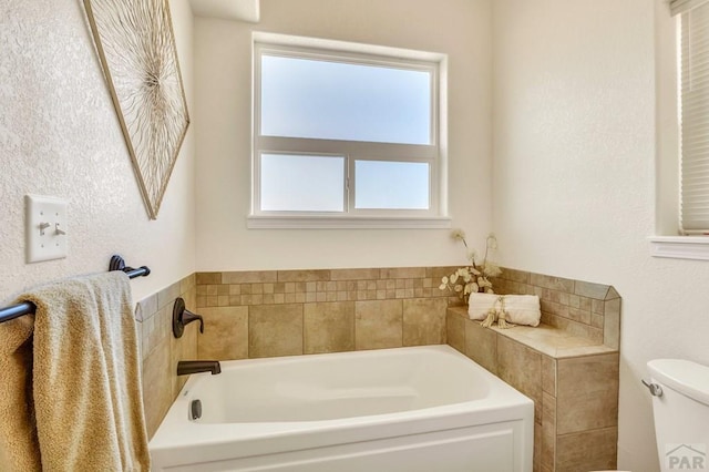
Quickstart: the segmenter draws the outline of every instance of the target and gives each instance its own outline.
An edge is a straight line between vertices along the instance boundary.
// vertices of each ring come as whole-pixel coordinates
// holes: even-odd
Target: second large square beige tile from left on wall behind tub
[[[248,355],[251,358],[302,353],[302,305],[249,307]]]

